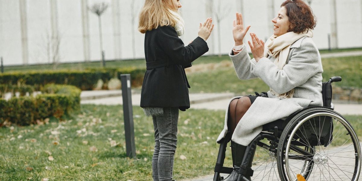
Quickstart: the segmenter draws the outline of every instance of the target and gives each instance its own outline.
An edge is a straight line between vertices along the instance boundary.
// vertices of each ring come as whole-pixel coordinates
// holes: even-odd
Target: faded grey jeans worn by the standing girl
[[[153,115],[155,152],[152,158],[154,181],[171,181],[177,144],[178,108],[163,108],[163,115]]]

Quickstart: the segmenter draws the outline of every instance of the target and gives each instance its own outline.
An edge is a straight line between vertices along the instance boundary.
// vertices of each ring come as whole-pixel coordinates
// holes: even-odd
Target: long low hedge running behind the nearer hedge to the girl
[[[99,79],[107,83],[111,78],[120,79],[120,74],[130,74],[132,85],[142,85],[144,72],[141,68],[104,68],[87,70],[58,70],[58,71],[29,71],[9,72],[0,74],[0,84],[26,84],[32,85],[36,90],[46,84],[74,85],[81,90],[92,90]]]

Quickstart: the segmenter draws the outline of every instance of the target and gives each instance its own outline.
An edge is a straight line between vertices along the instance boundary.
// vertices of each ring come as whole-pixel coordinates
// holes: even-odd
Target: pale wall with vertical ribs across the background
[[[109,4],[102,15],[106,59],[144,58],[144,35],[137,31],[138,13],[144,0],[102,1]],[[60,42],[60,62],[99,60],[98,18],[84,7],[102,1],[0,0],[0,56],[3,56],[4,64],[50,63],[52,47],[57,42]],[[311,3],[317,17],[313,39],[320,49],[328,48],[328,34],[333,27],[333,1],[312,0]],[[362,47],[362,0],[335,1],[337,47]],[[215,28],[207,41],[210,51],[206,55],[227,54],[233,45],[231,29],[235,12],[243,13],[244,24],[252,26],[249,32],[266,39],[272,33],[271,18],[278,12],[282,2],[283,0],[181,0],[183,7],[180,10],[186,26],[186,32],[181,38],[185,44],[193,40],[197,37],[198,23],[212,17]],[[134,3],[133,12],[131,3]],[[216,12],[224,16],[219,24],[216,23]],[[132,14],[135,16],[135,24],[131,23]],[[220,26],[220,32],[217,26]],[[248,40],[249,36],[245,42]]]

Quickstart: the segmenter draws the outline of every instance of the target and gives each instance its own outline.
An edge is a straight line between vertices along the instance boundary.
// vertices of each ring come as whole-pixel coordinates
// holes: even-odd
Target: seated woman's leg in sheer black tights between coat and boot
[[[231,132],[231,135],[233,134],[237,123],[239,123],[240,119],[248,111],[251,104],[252,102],[248,96],[240,97],[230,102],[228,128]]]

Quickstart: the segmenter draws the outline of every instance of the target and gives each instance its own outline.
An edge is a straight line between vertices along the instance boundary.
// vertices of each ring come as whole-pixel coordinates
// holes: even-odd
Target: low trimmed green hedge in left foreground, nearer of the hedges
[[[49,117],[61,118],[80,110],[81,90],[71,85],[46,85],[43,94],[0,99],[0,126],[4,122],[30,125]]]

